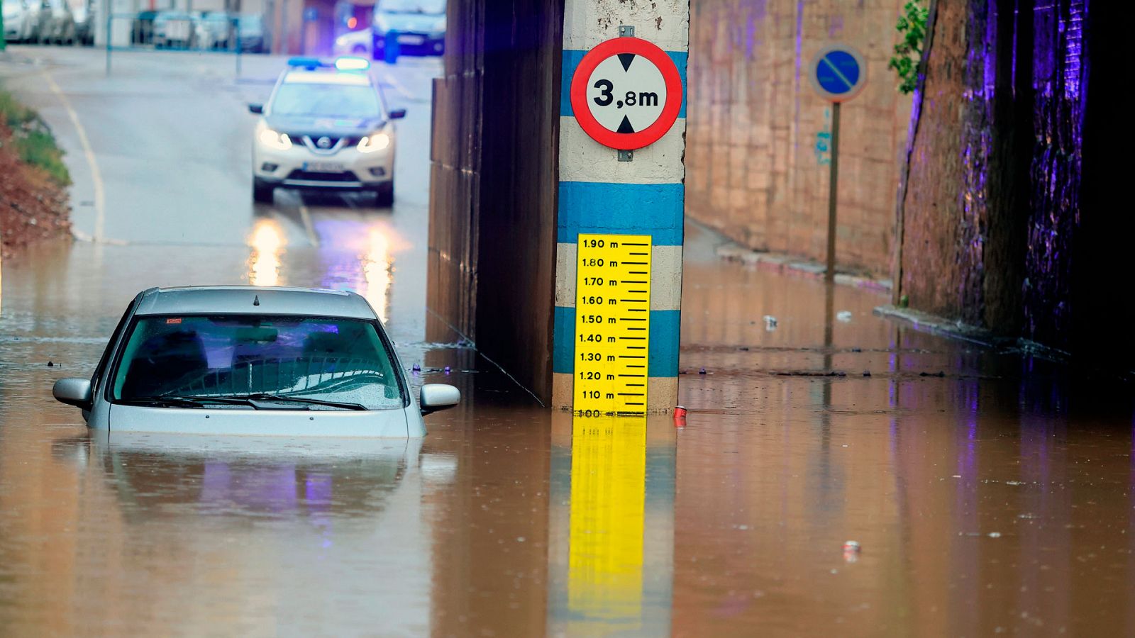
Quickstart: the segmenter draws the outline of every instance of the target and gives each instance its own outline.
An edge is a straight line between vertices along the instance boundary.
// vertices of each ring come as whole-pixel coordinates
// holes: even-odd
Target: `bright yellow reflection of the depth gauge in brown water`
[[[646,418],[572,423],[569,635],[628,632],[642,623]],[[589,631],[589,629],[591,631]]]

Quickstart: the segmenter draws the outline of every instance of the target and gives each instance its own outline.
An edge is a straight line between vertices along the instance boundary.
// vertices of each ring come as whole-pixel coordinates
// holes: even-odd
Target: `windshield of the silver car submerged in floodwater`
[[[277,395],[370,410],[405,405],[390,351],[370,321],[137,317],[125,344],[111,386],[116,402]]]

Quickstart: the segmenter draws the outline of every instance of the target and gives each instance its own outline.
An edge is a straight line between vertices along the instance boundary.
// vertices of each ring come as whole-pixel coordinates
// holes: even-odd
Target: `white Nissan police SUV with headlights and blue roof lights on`
[[[395,128],[405,109],[388,110],[370,62],[292,58],[252,141],[252,198],[271,203],[277,187],[369,191],[394,202]]]

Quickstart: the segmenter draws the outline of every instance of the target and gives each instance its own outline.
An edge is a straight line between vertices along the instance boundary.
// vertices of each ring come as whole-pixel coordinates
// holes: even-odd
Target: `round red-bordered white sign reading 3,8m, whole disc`
[[[571,106],[592,140],[623,151],[650,145],[678,120],[682,78],[657,45],[615,37],[588,51],[571,82]]]

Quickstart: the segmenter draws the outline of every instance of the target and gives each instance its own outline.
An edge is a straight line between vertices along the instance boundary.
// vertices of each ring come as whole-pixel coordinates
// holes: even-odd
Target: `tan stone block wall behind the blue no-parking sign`
[[[886,276],[910,99],[886,68],[902,0],[690,3],[688,213],[751,249],[823,260],[831,106],[808,82],[830,42],[867,60],[842,109],[836,259]]]

